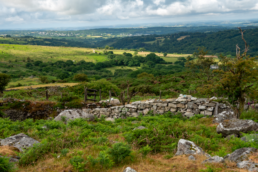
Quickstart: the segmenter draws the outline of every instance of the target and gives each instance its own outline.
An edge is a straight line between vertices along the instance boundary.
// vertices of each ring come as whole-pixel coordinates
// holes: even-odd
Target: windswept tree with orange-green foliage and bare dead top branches
[[[255,58],[247,55],[249,45],[244,39],[245,31],[242,31],[240,27],[238,29],[245,42],[244,50],[240,51],[237,44],[235,59],[231,60],[222,56],[219,69],[213,71],[216,74],[214,82],[200,89],[203,93],[228,98],[235,118],[239,118],[243,112],[245,98],[258,99],[258,64]],[[239,107],[237,106],[238,103]]]

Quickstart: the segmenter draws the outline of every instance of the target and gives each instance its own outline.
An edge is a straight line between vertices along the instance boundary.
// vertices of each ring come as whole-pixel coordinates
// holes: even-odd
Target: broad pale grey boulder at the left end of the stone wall
[[[86,113],[80,109],[64,110],[63,112],[59,113],[59,115],[55,117],[54,120],[61,121],[62,120],[61,117],[66,117],[66,121],[68,121],[69,119],[74,120],[76,118],[88,118],[90,121],[94,121],[95,119],[93,114]]]

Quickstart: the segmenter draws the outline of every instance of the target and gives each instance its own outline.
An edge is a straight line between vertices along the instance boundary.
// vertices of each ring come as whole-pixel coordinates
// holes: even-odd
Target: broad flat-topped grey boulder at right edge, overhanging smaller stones
[[[258,123],[253,120],[244,119],[231,119],[226,122],[221,122],[217,126],[217,133],[222,134],[224,137],[230,134],[238,134],[240,132],[247,133],[249,131],[257,131]]]

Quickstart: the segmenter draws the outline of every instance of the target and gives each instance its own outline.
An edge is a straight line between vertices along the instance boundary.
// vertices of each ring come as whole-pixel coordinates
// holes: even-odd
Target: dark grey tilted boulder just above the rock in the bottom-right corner
[[[237,149],[229,155],[228,160],[230,160],[232,162],[245,161],[245,160],[248,160],[249,156],[255,152],[258,152],[258,150],[256,148]]]

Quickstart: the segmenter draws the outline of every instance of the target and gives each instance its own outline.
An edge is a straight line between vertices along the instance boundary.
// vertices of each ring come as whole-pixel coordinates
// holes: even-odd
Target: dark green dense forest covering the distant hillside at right
[[[189,36],[188,36],[189,35]],[[187,36],[184,39],[178,40],[182,36]],[[165,39],[157,42],[157,37],[164,37]],[[247,29],[245,31],[245,39],[250,46],[248,54],[251,56],[258,55],[258,28]],[[159,39],[158,39],[159,40]],[[144,43],[155,41],[154,43]],[[145,48],[151,52],[167,52],[167,53],[183,53],[192,54],[198,47],[206,47],[210,50],[210,54],[223,53],[225,55],[235,56],[236,44],[244,47],[244,42],[241,41],[241,34],[238,30],[224,30],[218,32],[180,32],[177,34],[166,35],[146,35],[125,37],[122,39],[110,38],[103,40],[97,44],[99,47],[105,45],[114,48]]]

